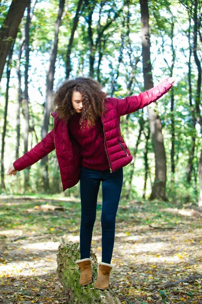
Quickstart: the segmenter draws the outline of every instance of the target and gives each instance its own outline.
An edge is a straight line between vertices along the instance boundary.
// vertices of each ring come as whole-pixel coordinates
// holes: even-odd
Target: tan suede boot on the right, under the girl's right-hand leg
[[[97,289],[108,289],[109,283],[110,283],[110,272],[113,269],[112,264],[100,262],[98,263],[98,269],[97,269],[97,280],[95,282],[95,287]]]

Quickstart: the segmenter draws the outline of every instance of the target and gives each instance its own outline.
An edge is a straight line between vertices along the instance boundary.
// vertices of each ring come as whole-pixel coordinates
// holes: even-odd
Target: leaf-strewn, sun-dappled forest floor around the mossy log
[[[45,204],[65,210],[42,210]],[[0,206],[0,302],[66,303],[57,252],[61,243],[79,242],[79,200],[0,196]],[[98,262],[101,210],[98,203],[92,240]],[[191,204],[120,201],[110,284],[122,303],[202,304],[201,219]]]

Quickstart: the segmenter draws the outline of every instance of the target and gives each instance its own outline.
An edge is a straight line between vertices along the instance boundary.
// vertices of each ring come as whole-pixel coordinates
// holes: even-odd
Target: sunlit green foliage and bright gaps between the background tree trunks
[[[1,1],[0,4],[0,24],[3,24],[6,14],[9,10],[11,2]],[[182,3],[182,4],[181,4]],[[158,109],[161,117],[164,134],[164,145],[167,157],[167,194],[170,200],[176,202],[187,201],[193,204],[197,201],[198,195],[198,176],[197,165],[198,155],[201,148],[200,134],[196,125],[193,128],[193,117],[189,103],[189,88],[187,77],[187,62],[189,55],[189,47],[187,42],[187,33],[189,30],[188,14],[186,6],[188,2],[178,1],[150,1],[149,5],[149,26],[151,39],[151,65],[153,66],[154,83],[164,79],[170,75],[172,64],[171,50],[171,25],[174,22],[174,49],[176,52],[176,60],[174,65],[174,75],[177,77],[177,86],[174,87],[174,110],[171,112],[171,94],[166,94],[158,101]],[[54,44],[54,25],[58,15],[59,2],[56,0],[37,1],[33,17],[30,23],[30,68],[29,68],[29,95],[30,95],[30,112],[32,112],[33,125],[35,126],[38,141],[41,140],[41,125],[43,122],[43,106],[45,100],[45,71],[49,61],[49,52]],[[72,30],[73,18],[75,16],[77,2],[74,0],[66,3],[62,24],[59,32],[58,56],[56,62],[55,87],[65,80],[65,64],[66,53]],[[92,49],[89,47],[89,32],[87,20],[89,12],[93,9],[92,15]],[[121,9],[120,13],[119,10]],[[99,20],[100,12],[100,20]],[[118,14],[119,13],[119,14]],[[118,16],[117,16],[118,14]],[[199,14],[199,12],[198,12]],[[117,16],[117,17],[116,17]],[[114,20],[113,18],[116,17]],[[110,26],[107,27],[107,24]],[[6,166],[15,160],[16,145],[16,117],[14,108],[16,107],[18,98],[18,83],[16,75],[16,67],[18,64],[19,43],[22,38],[22,32],[25,26],[26,14],[21,22],[16,44],[14,47],[14,56],[11,63],[12,80],[9,92],[9,113],[7,122],[7,139],[6,139]],[[100,35],[100,44],[98,44],[98,34]],[[89,55],[94,54],[94,78],[97,79],[98,60],[101,58],[99,66],[99,79],[104,87],[104,91],[116,98],[124,98],[130,95],[138,95],[144,90],[142,63],[141,63],[141,22],[139,2],[124,2],[124,0],[111,0],[107,3],[99,0],[96,3],[89,1],[88,5],[83,8],[79,22],[77,24],[73,47],[71,52],[72,72],[70,78],[77,75],[89,76]],[[191,44],[193,40],[192,23],[191,23]],[[198,39],[199,48],[201,46]],[[21,57],[21,75],[22,89],[24,90],[24,67],[25,52]],[[139,58],[139,61],[138,61]],[[37,63],[35,63],[35,61]],[[118,77],[117,77],[118,75]],[[1,91],[1,132],[3,128],[4,104],[5,104],[5,88],[6,79]],[[192,84],[192,104],[195,104],[195,92],[197,84],[197,70],[194,64],[194,58],[191,57],[191,84]],[[41,96],[34,99],[36,91],[33,87],[40,91]],[[21,140],[20,140],[20,156],[23,155],[23,116],[24,106],[21,108]],[[144,118],[144,131],[148,128],[148,118],[146,109],[142,113],[141,110],[132,113],[129,117],[121,118],[121,130],[127,145],[133,153],[139,132],[139,118]],[[173,184],[173,176],[171,174],[171,119],[174,117],[175,123],[175,182]],[[32,124],[30,123],[30,125]],[[31,127],[31,126],[30,126]],[[53,128],[53,119],[50,119],[50,130]],[[32,132],[32,131],[31,131]],[[31,140],[31,132],[29,136],[29,144]],[[195,152],[193,158],[193,171],[191,183],[186,181],[186,167],[192,146],[192,137],[195,136]],[[33,145],[36,144],[33,135]],[[29,146],[31,148],[31,146]],[[142,134],[138,151],[135,159],[134,175],[132,180],[132,188],[130,199],[141,199],[144,183],[144,150],[145,137]],[[151,136],[148,140],[148,180],[146,197],[149,196],[151,184],[155,177],[154,149]],[[62,192],[62,184],[60,178],[60,170],[57,167],[57,159],[55,151],[48,156],[48,174],[52,193]],[[133,164],[124,168],[124,185],[122,194],[126,195],[129,184],[130,172]],[[30,193],[38,193],[46,191],[42,188],[42,168],[40,162],[33,165],[30,169]],[[7,193],[23,193],[24,174],[17,174],[17,179],[11,179],[10,176],[5,177],[7,184]],[[15,182],[14,182],[15,181]],[[65,192],[65,196],[79,196],[79,184]],[[99,198],[101,198],[99,194]]]

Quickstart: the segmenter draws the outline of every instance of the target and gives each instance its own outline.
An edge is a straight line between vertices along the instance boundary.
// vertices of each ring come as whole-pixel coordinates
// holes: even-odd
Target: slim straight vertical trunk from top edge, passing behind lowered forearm
[[[28,136],[29,136],[29,95],[28,95],[28,71],[29,71],[29,25],[30,25],[30,0],[27,7],[27,18],[25,24],[25,98],[24,98],[24,115],[25,115],[25,129],[24,129],[24,154],[28,151]],[[25,173],[25,191],[29,188],[29,169]]]

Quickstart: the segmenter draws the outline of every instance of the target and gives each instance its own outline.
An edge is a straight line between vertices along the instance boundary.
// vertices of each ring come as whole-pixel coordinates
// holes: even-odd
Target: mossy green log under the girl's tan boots
[[[67,302],[69,304],[121,304],[112,289],[99,290],[94,287],[98,263],[92,250],[90,256],[93,265],[92,283],[86,286],[80,286],[80,270],[75,262],[77,259],[80,259],[79,243],[70,242],[59,246],[57,254],[57,274],[64,287]]]

